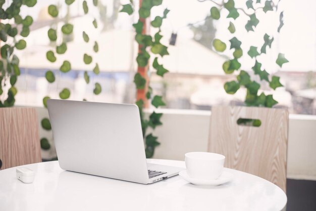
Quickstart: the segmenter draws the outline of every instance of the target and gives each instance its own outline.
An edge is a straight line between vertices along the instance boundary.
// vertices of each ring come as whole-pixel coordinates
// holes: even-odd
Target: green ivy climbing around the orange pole
[[[163,0],[143,0],[141,1],[141,5],[139,6],[138,15],[139,19],[136,23],[133,24],[135,28],[136,35],[135,40],[139,45],[139,52],[136,58],[136,62],[138,64],[138,69],[147,68],[154,69],[156,75],[161,77],[164,76],[165,73],[169,72],[163,64],[159,62],[159,59],[164,57],[165,55],[169,55],[168,47],[161,43],[161,39],[163,35],[161,35],[161,26],[163,21],[167,18],[167,14],[169,13],[168,9],[165,9],[162,16],[156,16],[153,20],[151,20],[150,25],[156,29],[156,32],[153,36],[150,34],[144,33],[145,31],[145,19],[150,17],[151,9],[156,6],[162,5]],[[128,15],[132,15],[134,12],[133,2],[130,4],[123,5],[123,8],[120,12],[127,13]],[[152,60],[151,65],[149,65],[150,53],[154,54],[155,58]],[[152,88],[147,85],[149,83],[149,77],[145,72],[138,71],[134,75],[134,83],[136,85],[137,91],[145,91],[146,99],[138,99],[136,101],[136,105],[140,111],[141,118],[141,126],[143,137],[145,141],[145,152],[146,157],[152,157],[154,153],[154,149],[156,146],[160,145],[157,141],[158,137],[154,136],[152,133],[147,133],[147,129],[151,128],[154,130],[156,126],[162,125],[161,117],[162,113],[152,112],[148,118],[145,117],[143,108],[145,107],[145,101],[151,100],[151,105],[155,108],[159,106],[166,105],[163,101],[162,96],[152,94]]]

